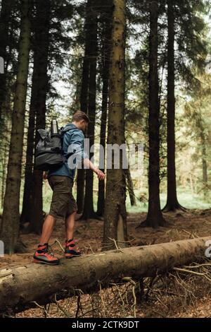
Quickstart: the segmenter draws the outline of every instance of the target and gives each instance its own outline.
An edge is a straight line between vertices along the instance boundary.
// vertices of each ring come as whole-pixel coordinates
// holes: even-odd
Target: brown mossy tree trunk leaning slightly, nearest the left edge
[[[23,134],[27,75],[30,56],[29,1],[21,1],[20,44],[18,52],[18,74],[13,106],[11,143],[4,196],[4,212],[1,223],[1,240],[5,252],[13,254],[19,233],[20,177],[23,155]],[[11,201],[13,204],[11,204]]]

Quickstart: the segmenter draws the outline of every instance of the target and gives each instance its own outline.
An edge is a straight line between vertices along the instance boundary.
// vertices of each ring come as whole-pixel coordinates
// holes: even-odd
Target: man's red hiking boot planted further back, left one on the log
[[[48,265],[58,265],[59,259],[53,256],[49,250],[49,244],[39,245],[33,256],[34,263],[43,263]]]

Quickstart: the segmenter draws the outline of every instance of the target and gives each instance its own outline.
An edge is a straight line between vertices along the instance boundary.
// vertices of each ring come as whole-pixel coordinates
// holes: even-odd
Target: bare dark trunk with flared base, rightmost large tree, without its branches
[[[168,45],[167,45],[167,203],[163,212],[183,209],[177,201],[175,168],[175,69],[174,69],[174,4],[168,0]]]

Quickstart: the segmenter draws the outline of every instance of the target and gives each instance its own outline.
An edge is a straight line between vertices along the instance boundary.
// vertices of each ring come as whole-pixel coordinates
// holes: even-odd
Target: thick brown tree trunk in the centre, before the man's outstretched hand
[[[114,0],[113,4],[107,143],[117,144],[120,147],[125,143],[125,1]],[[123,153],[120,153],[119,169],[115,169],[114,158],[112,158],[111,169],[107,169],[103,250],[115,247],[113,239],[122,242],[124,245],[124,242],[127,241],[126,185],[124,171],[122,170],[122,159]]]

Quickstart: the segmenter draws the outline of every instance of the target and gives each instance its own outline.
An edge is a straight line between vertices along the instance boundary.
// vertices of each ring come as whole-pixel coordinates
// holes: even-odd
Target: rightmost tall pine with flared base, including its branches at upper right
[[[198,17],[198,10],[205,11],[202,1],[167,1],[168,45],[167,45],[167,203],[164,212],[185,210],[177,200],[176,167],[175,167],[175,76],[178,71],[184,78],[187,88],[193,88],[196,80],[191,66],[202,68],[205,64],[206,43],[203,37],[205,25]],[[177,15],[177,24],[175,16]],[[181,30],[184,35],[181,35]],[[179,56],[175,59],[174,42],[177,32]],[[178,33],[180,32],[180,33]],[[191,32],[191,33],[190,33]],[[194,36],[194,37],[193,37]],[[191,66],[187,65],[181,55],[186,53]],[[200,54],[200,56],[198,55]],[[182,59],[182,61],[181,61]],[[176,68],[175,68],[176,64]],[[177,69],[177,70],[176,70]]]

